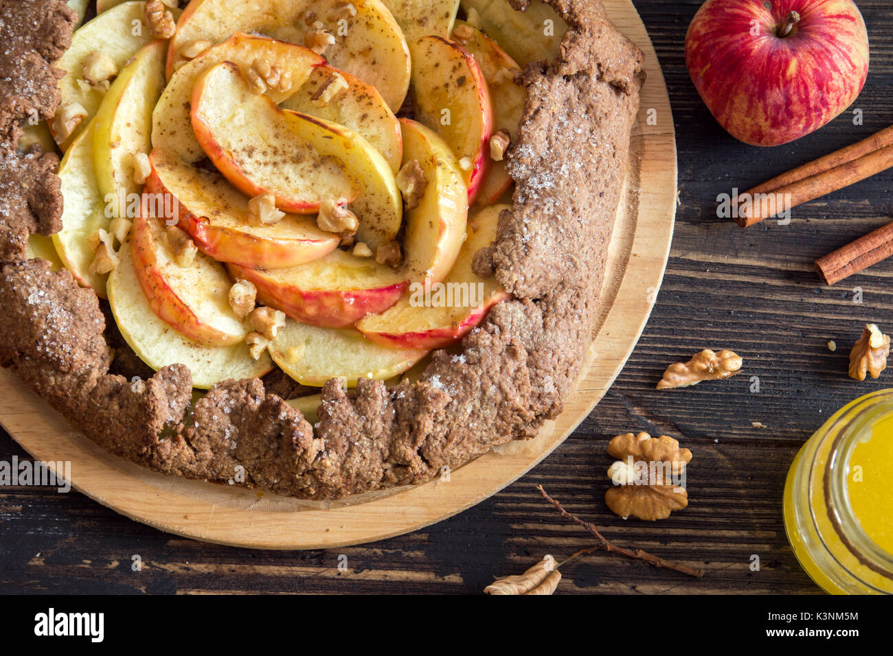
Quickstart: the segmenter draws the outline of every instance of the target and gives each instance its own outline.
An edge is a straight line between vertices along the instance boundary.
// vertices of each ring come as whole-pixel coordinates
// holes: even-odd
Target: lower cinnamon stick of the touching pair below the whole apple
[[[806,166],[814,166],[814,164],[815,162]],[[893,167],[893,143],[881,147],[880,150],[864,154],[855,160],[843,162],[827,170],[822,170],[821,167],[814,167],[812,170],[817,168],[819,172],[797,179],[783,187],[770,188],[769,191],[763,192],[750,190],[746,195],[742,195],[741,197],[749,197],[752,202],[750,207],[746,208],[746,211],[739,212],[738,216],[735,217],[735,222],[742,228],[747,228],[747,226],[752,226],[759,221],[768,219],[772,214],[771,211],[774,211],[775,215],[780,215],[793,207],[797,207],[797,205],[808,203],[823,195],[855,185],[856,182],[871,178],[873,175],[880,173],[880,171],[888,170],[891,167]],[[797,178],[799,175],[801,174],[793,177]],[[761,185],[761,187],[768,188],[771,183],[772,181]],[[758,188],[760,187],[755,187],[755,189]],[[774,202],[760,202],[759,199],[764,196],[758,195],[773,195]]]

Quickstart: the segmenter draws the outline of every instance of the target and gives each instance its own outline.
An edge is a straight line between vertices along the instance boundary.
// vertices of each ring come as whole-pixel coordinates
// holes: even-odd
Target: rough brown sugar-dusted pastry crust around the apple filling
[[[508,157],[513,207],[497,242],[475,258],[513,298],[459,353],[434,353],[417,382],[361,380],[345,391],[331,380],[311,427],[256,378],[224,381],[193,405],[183,365],[145,380],[109,373],[110,341],[127,346],[106,329],[94,292],[25,259],[30,233],[59,228],[62,198],[55,156],[18,154],[18,125],[33,108],[54,112],[52,62],[71,43],[74,19],[61,0],[0,0],[4,42],[14,44],[0,60],[0,79],[13,77],[0,85],[0,364],[112,453],[169,475],[290,496],[418,483],[536,436],[562,411],[590,339],[645,79],[641,52],[600,2],[547,2],[570,26],[563,56],[523,73],[527,101]],[[29,62],[33,87],[15,81],[17,61]]]

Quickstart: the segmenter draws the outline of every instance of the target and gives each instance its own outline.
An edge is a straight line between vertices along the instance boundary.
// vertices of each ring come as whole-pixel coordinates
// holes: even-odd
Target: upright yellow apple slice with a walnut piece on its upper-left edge
[[[439,282],[453,268],[468,219],[468,192],[443,139],[414,120],[400,119],[404,161],[419,162],[428,183],[418,205],[406,212],[404,266],[410,280]]]

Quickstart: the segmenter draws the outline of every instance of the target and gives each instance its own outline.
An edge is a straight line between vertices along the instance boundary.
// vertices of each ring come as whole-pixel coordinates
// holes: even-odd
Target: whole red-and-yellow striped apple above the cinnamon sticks
[[[868,33],[853,0],[707,0],[689,26],[685,62],[733,137],[780,145],[859,95]]]

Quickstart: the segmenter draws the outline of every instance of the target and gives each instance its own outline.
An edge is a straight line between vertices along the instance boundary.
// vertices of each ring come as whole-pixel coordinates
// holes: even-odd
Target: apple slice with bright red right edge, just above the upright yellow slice
[[[469,202],[489,168],[493,105],[478,62],[443,37],[410,43],[416,118],[435,130],[462,163]]]

